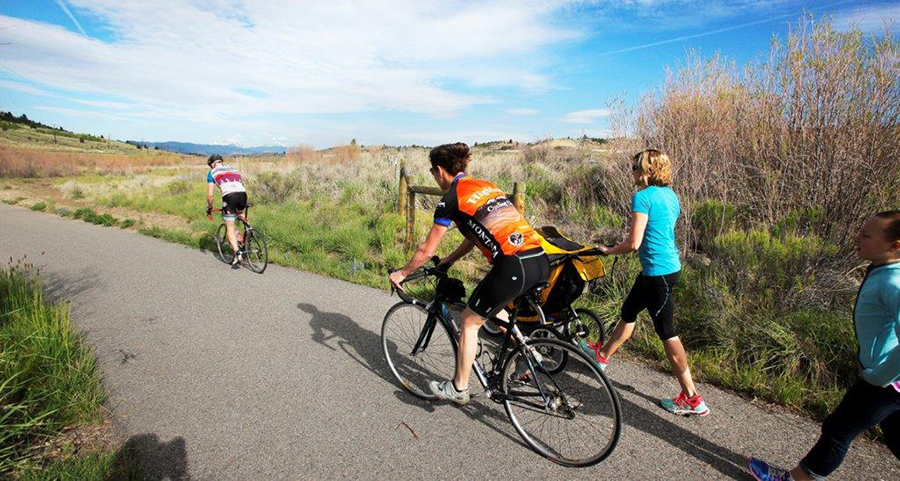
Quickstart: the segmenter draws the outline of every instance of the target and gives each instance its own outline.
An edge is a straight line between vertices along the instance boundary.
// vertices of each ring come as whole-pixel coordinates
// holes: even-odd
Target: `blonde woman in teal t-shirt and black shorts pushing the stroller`
[[[669,187],[672,183],[672,163],[663,152],[647,149],[632,158],[631,170],[634,183],[640,187],[631,200],[631,231],[628,239],[609,249],[604,248],[604,253],[615,255],[637,251],[642,271],[622,305],[622,321],[616,326],[609,342],[603,346],[583,344],[582,347],[587,348],[589,355],[595,356],[601,369],[606,369],[609,357],[634,332],[638,313],[647,309],[656,334],[663,342],[672,371],[681,384],[681,393],[671,399],[662,399],[660,404],[676,414],[706,416],[709,408],[694,386],[687,354],[673,321],[675,299],[672,289],[681,276],[681,262],[675,245],[675,223],[681,208],[678,196]]]

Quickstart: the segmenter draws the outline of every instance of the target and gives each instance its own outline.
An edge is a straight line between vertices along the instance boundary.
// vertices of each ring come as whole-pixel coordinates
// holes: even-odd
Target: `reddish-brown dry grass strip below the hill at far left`
[[[190,157],[170,153],[85,154],[32,149],[0,149],[0,177],[66,177],[82,174],[127,175],[153,167],[196,163]]]

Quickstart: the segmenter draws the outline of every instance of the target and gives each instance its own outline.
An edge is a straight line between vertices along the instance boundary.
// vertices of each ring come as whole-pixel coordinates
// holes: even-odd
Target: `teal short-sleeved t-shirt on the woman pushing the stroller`
[[[664,276],[680,271],[675,222],[681,206],[675,192],[669,187],[645,187],[631,198],[631,211],[647,215],[647,229],[638,249],[643,274]]]

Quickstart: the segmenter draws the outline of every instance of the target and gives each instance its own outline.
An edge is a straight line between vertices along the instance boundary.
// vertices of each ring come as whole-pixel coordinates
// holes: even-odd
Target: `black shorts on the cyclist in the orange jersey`
[[[469,297],[469,308],[483,318],[495,316],[510,301],[546,282],[550,261],[543,249],[531,249],[494,261],[494,267]]]

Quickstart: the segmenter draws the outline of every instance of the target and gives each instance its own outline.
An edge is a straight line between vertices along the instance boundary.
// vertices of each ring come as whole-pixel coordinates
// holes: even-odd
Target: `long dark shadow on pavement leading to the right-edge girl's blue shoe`
[[[658,399],[638,391],[634,386],[620,382],[613,382],[613,384],[620,393],[619,401],[622,406],[624,424],[671,444],[683,451],[684,454],[715,468],[723,476],[732,479],[747,477],[746,456],[735,453],[665,419],[663,415],[673,416],[673,414],[664,411],[659,406]],[[629,400],[628,394],[646,399],[655,408],[651,411],[644,403],[638,404]]]

